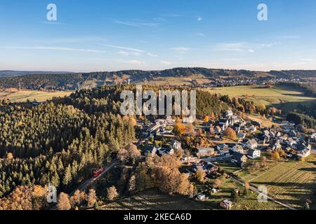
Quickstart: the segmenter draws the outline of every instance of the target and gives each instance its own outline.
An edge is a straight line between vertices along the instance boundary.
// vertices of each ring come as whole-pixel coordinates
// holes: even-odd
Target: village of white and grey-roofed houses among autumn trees
[[[238,172],[251,170],[258,162],[263,166],[267,160],[280,158],[298,162],[312,154],[316,133],[307,138],[301,127],[292,122],[280,118],[270,120],[277,123],[267,127],[232,110],[220,118],[207,117],[193,125],[171,116],[153,123],[147,120],[146,125],[138,120],[138,148],[143,156],[180,155],[180,172],[202,183],[195,200],[203,202],[220,191],[220,184],[216,184],[218,177],[240,183]],[[182,132],[179,133],[179,129]],[[237,172],[223,168],[225,165],[235,167]],[[249,183],[243,185],[244,193],[239,189],[232,190],[231,198],[220,200],[220,207],[232,209],[235,196],[245,194],[249,189]]]

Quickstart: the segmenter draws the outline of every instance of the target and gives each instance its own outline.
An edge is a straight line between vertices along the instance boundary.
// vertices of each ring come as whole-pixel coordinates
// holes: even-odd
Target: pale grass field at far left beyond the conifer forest
[[[53,97],[65,97],[70,95],[72,92],[44,92],[44,91],[4,91],[0,92],[0,99],[10,99],[11,102],[26,102],[37,100],[37,102],[45,102]]]

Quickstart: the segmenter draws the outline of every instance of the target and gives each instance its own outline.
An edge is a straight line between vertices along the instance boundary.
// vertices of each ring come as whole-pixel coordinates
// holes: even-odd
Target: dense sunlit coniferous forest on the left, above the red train
[[[91,94],[90,99],[96,104],[87,108],[89,100],[79,94],[40,106],[1,106],[0,197],[17,186],[48,183],[70,192],[131,144],[135,134],[130,118],[111,113],[113,104],[106,97]]]

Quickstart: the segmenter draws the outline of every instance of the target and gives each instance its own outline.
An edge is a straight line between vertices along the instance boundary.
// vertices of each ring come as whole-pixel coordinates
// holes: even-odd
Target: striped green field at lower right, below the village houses
[[[251,174],[241,172],[239,177],[257,187],[266,186],[275,200],[302,209],[307,199],[315,197],[316,158],[311,155],[305,162],[269,162],[268,169]]]

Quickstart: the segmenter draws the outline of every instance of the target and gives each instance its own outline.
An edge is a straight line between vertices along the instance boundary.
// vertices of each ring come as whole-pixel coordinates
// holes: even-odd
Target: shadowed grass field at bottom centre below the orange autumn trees
[[[206,204],[185,197],[172,196],[155,190],[147,190],[132,197],[106,204],[102,210],[200,210],[211,209]]]

